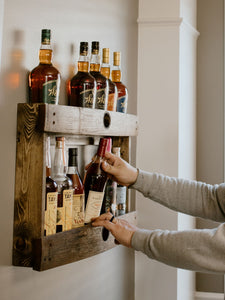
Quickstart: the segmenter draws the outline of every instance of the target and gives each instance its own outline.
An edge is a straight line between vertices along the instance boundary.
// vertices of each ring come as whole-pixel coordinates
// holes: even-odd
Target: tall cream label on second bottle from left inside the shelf
[[[73,205],[73,189],[63,191],[64,205],[64,230],[72,229],[72,205]]]

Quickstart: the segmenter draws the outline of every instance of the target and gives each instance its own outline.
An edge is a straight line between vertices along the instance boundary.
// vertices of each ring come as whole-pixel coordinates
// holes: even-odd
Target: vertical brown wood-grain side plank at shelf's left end
[[[13,264],[32,265],[32,240],[42,236],[43,134],[36,131],[38,106],[18,105]]]

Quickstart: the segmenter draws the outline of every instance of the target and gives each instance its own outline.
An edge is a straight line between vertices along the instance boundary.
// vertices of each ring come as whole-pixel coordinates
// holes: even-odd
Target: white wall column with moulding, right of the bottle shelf
[[[138,19],[137,166],[188,178],[195,178],[195,7],[195,0],[140,0]],[[139,193],[137,210],[143,228],[194,225]],[[194,273],[177,272],[141,253],[135,267],[135,299],[192,299]]]

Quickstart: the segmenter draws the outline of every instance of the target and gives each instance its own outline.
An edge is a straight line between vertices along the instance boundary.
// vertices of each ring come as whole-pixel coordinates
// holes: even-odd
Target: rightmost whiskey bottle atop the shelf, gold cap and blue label
[[[126,86],[121,82],[121,69],[120,69],[120,52],[113,53],[113,70],[112,70],[112,81],[117,86],[118,99],[116,111],[126,113],[127,102],[128,102],[128,90]]]

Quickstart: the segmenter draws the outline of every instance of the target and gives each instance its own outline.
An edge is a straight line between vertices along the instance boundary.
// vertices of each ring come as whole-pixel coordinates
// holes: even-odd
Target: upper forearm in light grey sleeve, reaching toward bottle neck
[[[139,170],[135,188],[173,210],[223,222],[225,220],[225,185],[179,179]]]

